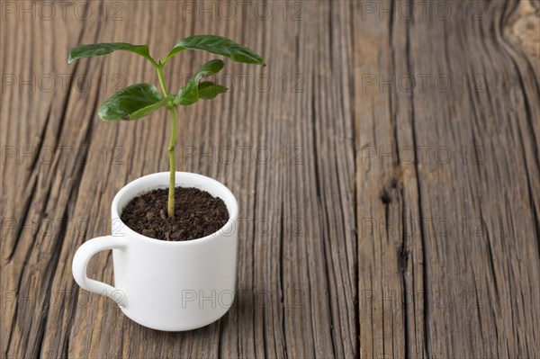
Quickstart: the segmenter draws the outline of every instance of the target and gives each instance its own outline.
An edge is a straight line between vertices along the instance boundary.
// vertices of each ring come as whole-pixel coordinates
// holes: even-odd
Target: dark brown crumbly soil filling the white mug
[[[121,220],[137,233],[156,239],[181,241],[217,232],[229,220],[225,203],[197,188],[175,188],[175,216],[166,215],[168,189],[135,197],[121,212]]]

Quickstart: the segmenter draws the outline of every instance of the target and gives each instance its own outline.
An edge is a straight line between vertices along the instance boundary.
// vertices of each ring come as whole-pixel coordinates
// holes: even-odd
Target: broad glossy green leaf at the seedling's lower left
[[[136,84],[122,88],[99,107],[102,120],[137,120],[166,106],[170,98],[162,98],[152,84]]]

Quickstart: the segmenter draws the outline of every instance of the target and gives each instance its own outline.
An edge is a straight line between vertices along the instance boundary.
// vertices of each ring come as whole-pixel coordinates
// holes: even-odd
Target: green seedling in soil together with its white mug
[[[90,239],[79,247],[72,270],[76,283],[116,301],[130,319],[169,331],[200,328],[220,319],[234,300],[236,277],[236,198],[216,180],[175,170],[177,107],[228,90],[202,81],[223,68],[222,60],[213,59],[199,67],[176,94],[169,93],[163,67],[186,49],[265,66],[253,50],[214,35],[181,40],[163,60],[152,58],[147,45],[123,42],[79,45],[67,59],[70,64],[124,50],[146,58],[157,70],[161,93],[155,85],[130,85],[103,102],[99,116],[104,121],[135,121],[166,108],[171,115],[169,172],[140,177],[115,195],[112,235]],[[86,276],[90,258],[106,249],[112,249],[114,287]]]

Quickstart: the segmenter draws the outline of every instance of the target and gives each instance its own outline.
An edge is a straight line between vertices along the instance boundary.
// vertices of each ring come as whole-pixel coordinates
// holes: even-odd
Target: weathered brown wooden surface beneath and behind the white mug
[[[539,357],[540,6],[427,3],[91,1],[51,17],[3,1],[0,355]],[[165,112],[96,114],[157,76],[128,53],[67,66],[67,51],[158,57],[202,33],[268,65],[229,62],[230,94],[180,111],[177,166],[239,200],[238,295],[206,328],[157,332],[71,275],[121,186],[168,168]],[[172,60],[169,87],[208,58]],[[88,273],[112,283],[112,256]]]

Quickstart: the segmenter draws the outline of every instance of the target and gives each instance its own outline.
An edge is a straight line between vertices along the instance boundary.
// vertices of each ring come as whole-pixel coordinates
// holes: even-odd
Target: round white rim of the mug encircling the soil
[[[211,184],[219,187],[223,192],[226,193],[226,196],[229,197],[229,198],[223,198],[223,197],[218,196],[218,195],[216,195],[215,197],[219,197],[221,199],[221,201],[225,202],[225,205],[227,206],[227,211],[229,211],[229,220],[227,221],[227,223],[225,223],[223,225],[223,227],[221,227],[217,231],[209,234],[208,236],[205,236],[205,237],[202,237],[202,238],[194,238],[194,239],[190,239],[190,240],[182,240],[182,241],[171,241],[171,240],[164,240],[164,239],[157,239],[157,238],[149,238],[147,236],[144,236],[144,235],[134,231],[133,229],[130,229],[130,227],[127,224],[125,224],[123,222],[123,220],[121,220],[121,216],[119,214],[118,206],[119,206],[119,202],[121,201],[121,199],[123,199],[123,197],[127,195],[127,193],[130,191],[131,187],[137,185],[139,182],[141,182],[143,180],[153,179],[152,177],[156,177],[158,179],[161,179],[162,176],[166,176],[166,185],[168,186],[168,177],[169,177],[169,175],[170,175],[169,172],[157,172],[157,173],[150,174],[150,175],[143,175],[143,176],[141,176],[139,178],[134,179],[130,183],[125,184],[123,187],[121,187],[120,191],[118,191],[118,193],[116,193],[116,195],[112,199],[112,209],[111,209],[111,215],[112,215],[112,234],[111,235],[112,235],[112,237],[117,237],[117,236],[114,236],[114,222],[115,221],[120,221],[120,224],[121,224],[120,231],[122,233],[125,233],[127,236],[139,238],[141,240],[144,240],[144,241],[148,242],[149,244],[153,244],[153,245],[157,245],[157,246],[194,246],[194,245],[197,245],[197,244],[201,244],[203,242],[208,242],[208,241],[210,241],[211,239],[214,239],[214,238],[220,238],[222,236],[226,236],[226,237],[233,236],[234,230],[232,230],[232,232],[231,232],[231,228],[232,228],[233,225],[236,224],[236,222],[238,220],[238,202],[237,202],[237,199],[234,196],[234,194],[229,190],[229,188],[225,184],[220,183],[220,181],[218,181],[218,180],[215,180],[215,179],[213,179],[211,177],[208,177],[206,175],[195,174],[195,173],[192,173],[192,172],[181,172],[181,171],[176,171],[175,175],[176,176],[177,175],[187,175],[187,176],[191,176],[191,177],[193,177],[195,179],[199,178],[199,179],[203,179],[204,181],[210,181]],[[157,181],[157,187],[160,186],[160,185],[161,184],[159,183],[159,181]],[[154,187],[154,188],[148,187],[146,190],[142,190],[141,192],[134,194],[133,197],[131,197],[128,200],[128,202],[130,202],[133,198],[138,196],[140,193],[145,193],[145,191],[148,192],[148,191],[150,191],[152,189],[155,189],[157,187]],[[202,185],[202,187],[200,189],[202,191],[207,191],[205,187],[208,187],[208,185],[207,184]],[[126,231],[127,231],[127,233],[126,233]]]

